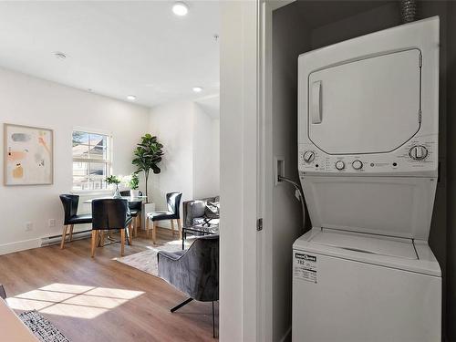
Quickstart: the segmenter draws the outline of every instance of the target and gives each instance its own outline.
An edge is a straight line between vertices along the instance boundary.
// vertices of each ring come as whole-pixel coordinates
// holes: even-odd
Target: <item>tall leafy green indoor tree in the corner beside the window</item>
[[[147,133],[141,137],[141,142],[138,144],[136,150],[134,150],[135,158],[131,162],[137,167],[137,173],[144,172],[147,202],[149,202],[147,183],[149,181],[150,170],[155,174],[161,172],[158,164],[161,162],[161,156],[163,155],[162,149],[163,145],[157,140],[157,137],[152,137]]]

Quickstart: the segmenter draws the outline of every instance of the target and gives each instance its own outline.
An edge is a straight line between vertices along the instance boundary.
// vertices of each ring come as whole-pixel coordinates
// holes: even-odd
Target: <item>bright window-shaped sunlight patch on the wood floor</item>
[[[6,301],[16,310],[91,319],[143,294],[119,288],[55,283],[9,297]]]

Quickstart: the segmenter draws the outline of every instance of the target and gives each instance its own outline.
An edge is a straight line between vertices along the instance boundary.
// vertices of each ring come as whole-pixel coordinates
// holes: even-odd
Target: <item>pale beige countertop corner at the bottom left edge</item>
[[[2,341],[39,342],[2,298],[0,298],[0,331]]]

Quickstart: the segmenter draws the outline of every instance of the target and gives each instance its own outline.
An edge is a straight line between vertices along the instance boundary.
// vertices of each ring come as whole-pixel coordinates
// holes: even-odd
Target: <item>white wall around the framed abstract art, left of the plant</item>
[[[0,123],[54,130],[54,184],[10,187],[0,184],[3,221],[0,254],[3,254],[39,246],[42,237],[61,233],[63,209],[58,195],[71,192],[73,128],[112,134],[112,171],[128,174],[134,171],[132,150],[149,127],[149,111],[4,68],[0,68],[0,94]],[[2,154],[3,143],[2,137]],[[3,168],[0,169],[3,179]],[[57,220],[55,228],[48,228],[49,219]],[[26,222],[33,223],[32,231],[26,232]]]

